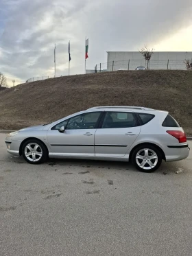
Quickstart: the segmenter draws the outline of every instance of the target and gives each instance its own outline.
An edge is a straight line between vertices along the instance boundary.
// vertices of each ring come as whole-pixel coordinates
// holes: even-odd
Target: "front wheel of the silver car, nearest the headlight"
[[[22,155],[28,163],[38,165],[47,160],[48,150],[38,139],[29,139],[23,144]]]

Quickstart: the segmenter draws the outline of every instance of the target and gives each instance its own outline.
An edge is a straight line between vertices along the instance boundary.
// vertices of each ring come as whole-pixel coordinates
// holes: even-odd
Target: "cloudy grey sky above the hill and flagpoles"
[[[71,75],[107,61],[106,51],[192,51],[191,0],[0,0],[0,72],[16,84]]]

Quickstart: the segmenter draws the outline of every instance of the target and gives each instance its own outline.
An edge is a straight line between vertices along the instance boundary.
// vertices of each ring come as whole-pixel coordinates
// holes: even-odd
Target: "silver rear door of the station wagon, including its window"
[[[95,132],[95,156],[123,157],[141,132],[133,112],[108,111]]]

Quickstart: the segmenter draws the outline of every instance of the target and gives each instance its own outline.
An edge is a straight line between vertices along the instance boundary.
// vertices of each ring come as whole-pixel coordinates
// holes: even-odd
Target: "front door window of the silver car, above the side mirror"
[[[101,112],[85,113],[82,115],[76,115],[60,124],[57,124],[52,130],[58,130],[64,126],[65,130],[77,130],[77,129],[94,129],[97,125]]]

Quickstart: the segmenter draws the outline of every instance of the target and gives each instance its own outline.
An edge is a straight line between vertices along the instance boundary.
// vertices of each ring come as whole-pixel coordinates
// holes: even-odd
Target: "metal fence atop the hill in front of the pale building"
[[[119,60],[95,65],[95,73],[117,71],[119,69],[135,70],[138,66],[147,68],[146,60]],[[182,69],[186,70],[184,60],[149,60],[149,69]]]

